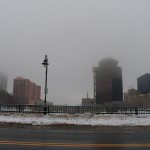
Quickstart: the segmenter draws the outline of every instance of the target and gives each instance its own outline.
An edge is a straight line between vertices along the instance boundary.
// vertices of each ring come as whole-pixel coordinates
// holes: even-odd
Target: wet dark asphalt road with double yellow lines
[[[0,128],[0,150],[149,150],[150,131]]]

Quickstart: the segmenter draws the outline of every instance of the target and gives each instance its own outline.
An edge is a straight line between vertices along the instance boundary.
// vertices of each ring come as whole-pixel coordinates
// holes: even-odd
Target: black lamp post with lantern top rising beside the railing
[[[48,71],[48,57],[47,55],[45,55],[45,59],[43,60],[42,65],[46,68],[46,72],[45,72],[45,89],[44,89],[44,94],[45,94],[45,99],[44,99],[44,115],[46,115],[47,112],[47,106],[46,106],[46,96],[48,93],[48,89],[47,89],[47,71]]]

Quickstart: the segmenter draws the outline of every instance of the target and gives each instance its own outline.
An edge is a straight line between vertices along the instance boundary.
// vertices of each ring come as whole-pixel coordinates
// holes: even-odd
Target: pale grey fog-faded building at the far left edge
[[[0,73],[0,91],[7,91],[7,75]]]

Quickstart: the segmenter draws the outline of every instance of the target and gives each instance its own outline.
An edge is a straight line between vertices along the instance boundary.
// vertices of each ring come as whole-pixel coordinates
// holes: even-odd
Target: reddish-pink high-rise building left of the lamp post
[[[29,79],[17,77],[14,79],[13,97],[18,104],[35,104],[41,97],[41,87]]]

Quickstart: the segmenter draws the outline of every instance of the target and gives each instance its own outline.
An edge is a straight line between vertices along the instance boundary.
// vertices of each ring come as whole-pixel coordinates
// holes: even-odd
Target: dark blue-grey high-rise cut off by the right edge
[[[138,91],[146,94],[150,92],[150,74],[146,73],[137,78]]]

